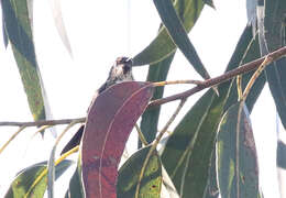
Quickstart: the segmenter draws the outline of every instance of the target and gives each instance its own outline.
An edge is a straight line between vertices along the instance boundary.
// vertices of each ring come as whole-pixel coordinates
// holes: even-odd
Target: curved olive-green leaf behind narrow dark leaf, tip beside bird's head
[[[175,1],[175,10],[182,19],[187,32],[189,32],[196,23],[204,4],[202,0]],[[166,28],[163,26],[152,43],[133,58],[133,66],[158,63],[174,53],[175,50],[176,45],[168,35]]]

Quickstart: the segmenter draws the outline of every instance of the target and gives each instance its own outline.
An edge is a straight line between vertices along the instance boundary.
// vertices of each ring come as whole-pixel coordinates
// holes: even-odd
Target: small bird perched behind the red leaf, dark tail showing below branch
[[[109,76],[106,80],[106,82],[99,87],[99,89],[94,95],[94,98],[91,100],[91,103],[87,110],[89,112],[89,109],[94,101],[97,99],[97,97],[103,92],[107,88],[111,87],[112,85],[122,82],[122,81],[133,81],[133,74],[132,74],[132,58],[122,56],[118,57],[112,65]],[[81,124],[75,135],[68,141],[68,143],[64,146],[64,148],[61,152],[61,155],[68,152],[69,150],[76,147],[80,144],[82,134],[85,131],[85,124]]]

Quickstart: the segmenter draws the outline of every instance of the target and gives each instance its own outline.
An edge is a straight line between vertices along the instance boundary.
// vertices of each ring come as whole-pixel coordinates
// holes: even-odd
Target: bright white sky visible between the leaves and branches
[[[211,76],[226,69],[235,44],[246,24],[245,1],[215,1],[217,10],[205,7],[189,36]],[[73,48],[73,58],[65,50],[54,25],[48,1],[34,2],[34,40],[36,56],[54,119],[86,116],[96,89],[107,79],[118,56],[134,56],[155,37],[160,18],[152,1],[62,1],[65,25]],[[130,8],[130,9],[129,9]],[[16,65],[10,47],[4,50],[0,36],[0,120],[31,121]],[[147,67],[134,68],[136,80],[145,80]],[[178,52],[168,79],[200,79]],[[186,90],[189,86],[170,86],[165,96]],[[202,94],[202,92],[201,92]],[[188,99],[176,121],[201,96]],[[163,106],[160,129],[178,102]],[[260,160],[261,186],[265,198],[278,198],[276,175],[275,107],[265,86],[251,116]],[[177,123],[177,122],[176,122]],[[172,124],[170,129],[176,125]],[[57,128],[61,132],[63,127]],[[76,128],[74,128],[75,131]],[[0,128],[2,145],[16,128]],[[0,155],[0,195],[16,172],[35,162],[46,161],[54,139],[40,135],[35,129],[22,132]],[[72,136],[72,133],[67,135]],[[136,145],[135,134],[131,145]],[[63,142],[64,144],[64,142]],[[58,147],[58,151],[61,146]],[[67,186],[68,184],[61,185]]]

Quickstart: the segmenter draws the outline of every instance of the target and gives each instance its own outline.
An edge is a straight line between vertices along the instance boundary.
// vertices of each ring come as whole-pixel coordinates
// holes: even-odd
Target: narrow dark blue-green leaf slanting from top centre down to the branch
[[[200,76],[202,76],[205,79],[210,78],[194,45],[190,43],[187,32],[184,28],[184,24],[179,20],[173,7],[172,1],[170,0],[153,0],[153,1],[173,42],[178,46],[178,48],[183,52],[185,57],[193,65],[193,67],[200,74]]]

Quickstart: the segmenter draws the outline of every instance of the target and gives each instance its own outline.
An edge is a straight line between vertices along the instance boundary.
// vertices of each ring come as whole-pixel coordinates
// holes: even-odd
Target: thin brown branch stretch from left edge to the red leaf
[[[63,120],[40,120],[35,122],[0,122],[0,127],[42,127],[42,125],[57,125],[57,124],[69,124],[73,121],[85,122],[86,118],[78,119],[63,119]]]

